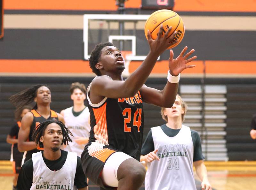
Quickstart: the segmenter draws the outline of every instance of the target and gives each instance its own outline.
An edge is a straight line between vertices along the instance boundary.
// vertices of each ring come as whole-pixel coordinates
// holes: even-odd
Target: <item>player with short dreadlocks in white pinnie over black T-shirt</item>
[[[60,149],[72,142],[68,134],[72,135],[65,124],[54,120],[44,121],[33,130],[33,141],[44,150],[33,153],[22,165],[17,190],[87,189],[81,158]]]

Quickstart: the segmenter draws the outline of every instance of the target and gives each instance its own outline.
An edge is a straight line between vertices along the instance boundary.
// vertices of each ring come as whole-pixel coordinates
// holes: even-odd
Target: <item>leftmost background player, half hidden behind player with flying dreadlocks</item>
[[[31,110],[31,107],[24,106],[20,110],[15,112],[15,120],[17,121],[15,125],[12,126],[10,133],[7,135],[6,142],[12,144],[12,151],[11,151],[11,162],[12,168],[14,172],[13,178],[13,190],[16,190],[17,179],[20,173],[21,161],[23,153],[18,150],[18,133],[20,130],[21,119],[23,116]]]

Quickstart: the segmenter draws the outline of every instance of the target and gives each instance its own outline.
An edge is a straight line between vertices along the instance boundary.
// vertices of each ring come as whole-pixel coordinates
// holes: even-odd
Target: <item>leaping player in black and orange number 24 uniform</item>
[[[140,160],[143,137],[143,105],[151,103],[160,107],[172,107],[178,91],[179,74],[196,56],[187,59],[194,49],[185,47],[173,59],[170,50],[168,82],[163,90],[144,85],[157,57],[172,42],[171,27],[162,36],[161,25],[156,40],[148,31],[150,51],[142,64],[126,80],[122,78],[124,58],[112,43],[100,43],[89,59],[96,76],[87,88],[91,131],[89,143],[82,153],[85,175],[103,189],[136,190],[145,179],[145,169]]]

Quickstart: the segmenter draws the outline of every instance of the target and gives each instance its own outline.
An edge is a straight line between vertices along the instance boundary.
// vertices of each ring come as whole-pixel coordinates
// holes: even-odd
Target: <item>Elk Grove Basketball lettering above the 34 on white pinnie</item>
[[[188,156],[186,144],[167,144],[159,146],[157,156],[161,158],[171,157],[171,156]]]

